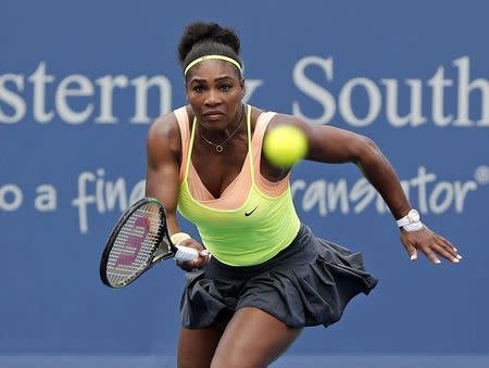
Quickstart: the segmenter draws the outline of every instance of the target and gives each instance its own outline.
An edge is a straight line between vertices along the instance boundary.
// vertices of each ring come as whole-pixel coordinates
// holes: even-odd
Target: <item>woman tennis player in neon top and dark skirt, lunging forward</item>
[[[180,305],[180,368],[266,367],[304,327],[338,321],[352,297],[377,283],[361,253],[316,238],[298,218],[290,168],[262,154],[264,137],[278,125],[305,134],[306,160],[359,166],[398,220],[411,259],[418,253],[435,264],[461,259],[423,225],[369,139],[243,104],[239,49],[233,29],[190,24],[178,47],[188,105],[159,118],[148,135],[147,195],[164,204],[172,240],[200,252],[179,263],[190,271]],[[181,231],[177,208],[201,242]]]

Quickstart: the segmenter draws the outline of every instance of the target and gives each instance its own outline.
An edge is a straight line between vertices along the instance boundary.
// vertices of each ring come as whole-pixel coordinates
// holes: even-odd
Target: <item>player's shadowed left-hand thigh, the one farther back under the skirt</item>
[[[224,330],[217,327],[180,329],[178,368],[209,368]]]

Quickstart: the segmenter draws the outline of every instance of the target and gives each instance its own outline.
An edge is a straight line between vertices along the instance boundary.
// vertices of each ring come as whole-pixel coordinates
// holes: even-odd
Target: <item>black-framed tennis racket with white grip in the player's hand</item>
[[[163,205],[154,198],[143,198],[112,230],[100,262],[100,278],[105,285],[120,289],[163,259],[187,262],[198,256],[195,249],[172,243]]]

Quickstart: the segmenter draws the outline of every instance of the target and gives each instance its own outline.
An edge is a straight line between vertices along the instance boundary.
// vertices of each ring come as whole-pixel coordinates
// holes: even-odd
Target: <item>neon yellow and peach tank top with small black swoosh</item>
[[[187,116],[187,112],[180,110],[179,114],[176,113],[177,118],[178,116],[183,116],[183,113]],[[274,113],[263,114],[275,115]],[[254,136],[260,136],[258,135],[258,130],[260,129],[262,134],[264,132],[271,116],[268,116],[268,119],[265,119],[264,126],[262,124],[261,127],[259,127],[259,118]],[[186,124],[188,130],[188,117],[186,118]],[[185,129],[184,124],[181,124],[181,118],[179,119],[179,126],[181,132]],[[293,206],[289,177],[284,179],[286,180],[284,182],[286,185],[285,190],[276,196],[264,193],[256,186],[256,176],[260,176],[259,179],[262,180],[261,182],[263,180],[266,181],[266,179],[260,174],[261,141],[263,135],[262,137],[256,137],[261,141],[259,149],[254,152],[255,155],[253,155],[251,106],[248,105],[247,110],[248,155],[240,173],[240,175],[248,175],[248,173],[243,172],[249,169],[251,174],[248,175],[251,176],[250,183],[244,189],[248,191],[247,195],[242,195],[242,192],[238,193],[238,190],[242,191],[243,188],[236,188],[238,187],[236,186],[228,193],[223,193],[221,198],[212,201],[198,201],[192,196],[189,187],[189,170],[190,167],[193,168],[191,165],[191,152],[196,126],[197,122],[193,119],[191,132],[187,135],[190,136],[188,149],[183,149],[181,151],[183,156],[186,154],[186,160],[181,160],[181,164],[185,167],[180,168],[180,188],[178,193],[179,213],[197,226],[203,245],[214,257],[224,264],[230,266],[249,266],[272,258],[292,242],[299,231],[300,220]],[[181,137],[185,139],[184,134],[181,134]],[[184,140],[183,147],[185,148]],[[198,175],[197,172],[192,174]],[[273,185],[269,181],[267,183]],[[231,208],[220,207],[220,201],[227,201],[229,203],[233,196],[241,196],[244,200]],[[212,205],[210,202],[212,202]]]

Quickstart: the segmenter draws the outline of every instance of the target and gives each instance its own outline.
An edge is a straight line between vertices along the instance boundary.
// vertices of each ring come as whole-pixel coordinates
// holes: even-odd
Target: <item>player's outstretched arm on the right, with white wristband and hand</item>
[[[402,221],[409,223],[406,215],[412,210],[411,204],[396,170],[376,143],[352,131],[325,125],[310,125],[294,117],[289,118],[289,124],[300,127],[308,137],[306,160],[323,163],[354,163],[383,196],[393,217],[397,220],[403,218]],[[435,264],[440,263],[440,257],[451,263],[459,263],[462,259],[450,241],[423,224],[414,226],[414,229],[410,226],[400,226],[400,232],[410,259],[416,259],[418,251]]]

